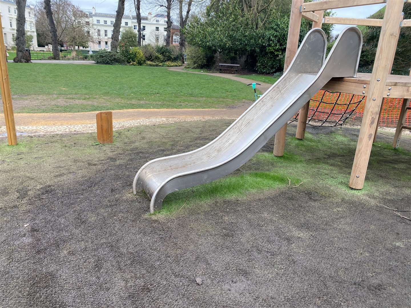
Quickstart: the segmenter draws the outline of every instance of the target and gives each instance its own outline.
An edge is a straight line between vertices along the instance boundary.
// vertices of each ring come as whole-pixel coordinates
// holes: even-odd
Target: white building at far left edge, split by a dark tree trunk
[[[4,43],[7,47],[14,46],[13,38],[16,37],[16,0],[0,0],[0,15],[1,23],[3,27]],[[34,7],[31,5],[26,5],[25,9],[25,30],[28,34],[33,36],[31,41],[31,49],[37,47],[37,35],[36,26],[34,19]]]

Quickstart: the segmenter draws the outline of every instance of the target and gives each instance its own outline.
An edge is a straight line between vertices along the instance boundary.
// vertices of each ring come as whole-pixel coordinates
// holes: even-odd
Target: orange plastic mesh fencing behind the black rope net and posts
[[[367,97],[357,94],[320,90],[310,100],[307,124],[312,126],[341,126],[346,121],[356,122],[363,117]],[[395,127],[403,99],[385,98],[380,126]],[[351,120],[349,120],[351,119]],[[291,122],[298,121],[298,113]],[[290,123],[291,123],[290,122]],[[406,124],[411,124],[411,113]]]

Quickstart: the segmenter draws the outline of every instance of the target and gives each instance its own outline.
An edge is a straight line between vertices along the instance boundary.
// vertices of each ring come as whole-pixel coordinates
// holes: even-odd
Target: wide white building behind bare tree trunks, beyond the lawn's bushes
[[[91,11],[85,11],[89,14],[90,17],[90,24],[95,28],[96,33],[96,42],[89,42],[89,46],[92,50],[99,50],[99,49],[109,49],[111,48],[111,35],[113,34],[113,25],[115,21],[115,14],[106,14],[106,13],[98,13],[96,9],[93,7]],[[167,18],[166,15],[163,14],[155,14],[152,15],[148,13],[148,16],[141,16],[141,30],[142,32],[142,44],[150,44],[157,42],[158,44],[163,44],[166,39],[167,33]],[[125,28],[132,28],[135,32],[138,32],[138,24],[136,20],[136,16],[132,15],[132,11],[129,10],[129,14],[124,14],[121,20],[121,27],[120,27],[120,36],[121,30]],[[179,30],[175,31],[175,29],[180,29],[176,25],[172,25],[173,32],[179,32]],[[173,31],[174,29],[174,31]],[[180,41],[179,37],[177,37],[178,33],[174,33],[175,38],[173,39],[173,35],[171,35],[171,42],[175,42],[178,44]]]

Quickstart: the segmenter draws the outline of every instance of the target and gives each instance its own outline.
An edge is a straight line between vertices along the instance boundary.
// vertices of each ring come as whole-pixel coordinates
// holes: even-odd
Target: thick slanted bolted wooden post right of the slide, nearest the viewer
[[[364,108],[363,121],[361,122],[360,135],[349,186],[361,189],[364,186],[365,174],[369,155],[371,153],[372,141],[378,121],[379,111],[386,89],[386,80],[390,74],[391,59],[395,55],[395,48],[399,36],[399,23],[402,20],[403,1],[387,0],[384,23],[374,60],[367,103]]]

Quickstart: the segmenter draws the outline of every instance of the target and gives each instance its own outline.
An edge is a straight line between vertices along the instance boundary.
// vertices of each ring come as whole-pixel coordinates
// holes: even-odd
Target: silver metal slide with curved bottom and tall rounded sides
[[[362,35],[347,27],[324,62],[327,39],[312,29],[284,75],[220,136],[191,152],[149,161],[137,172],[133,191],[145,191],[150,212],[166,195],[228,175],[247,162],[332,77],[357,74]]]

